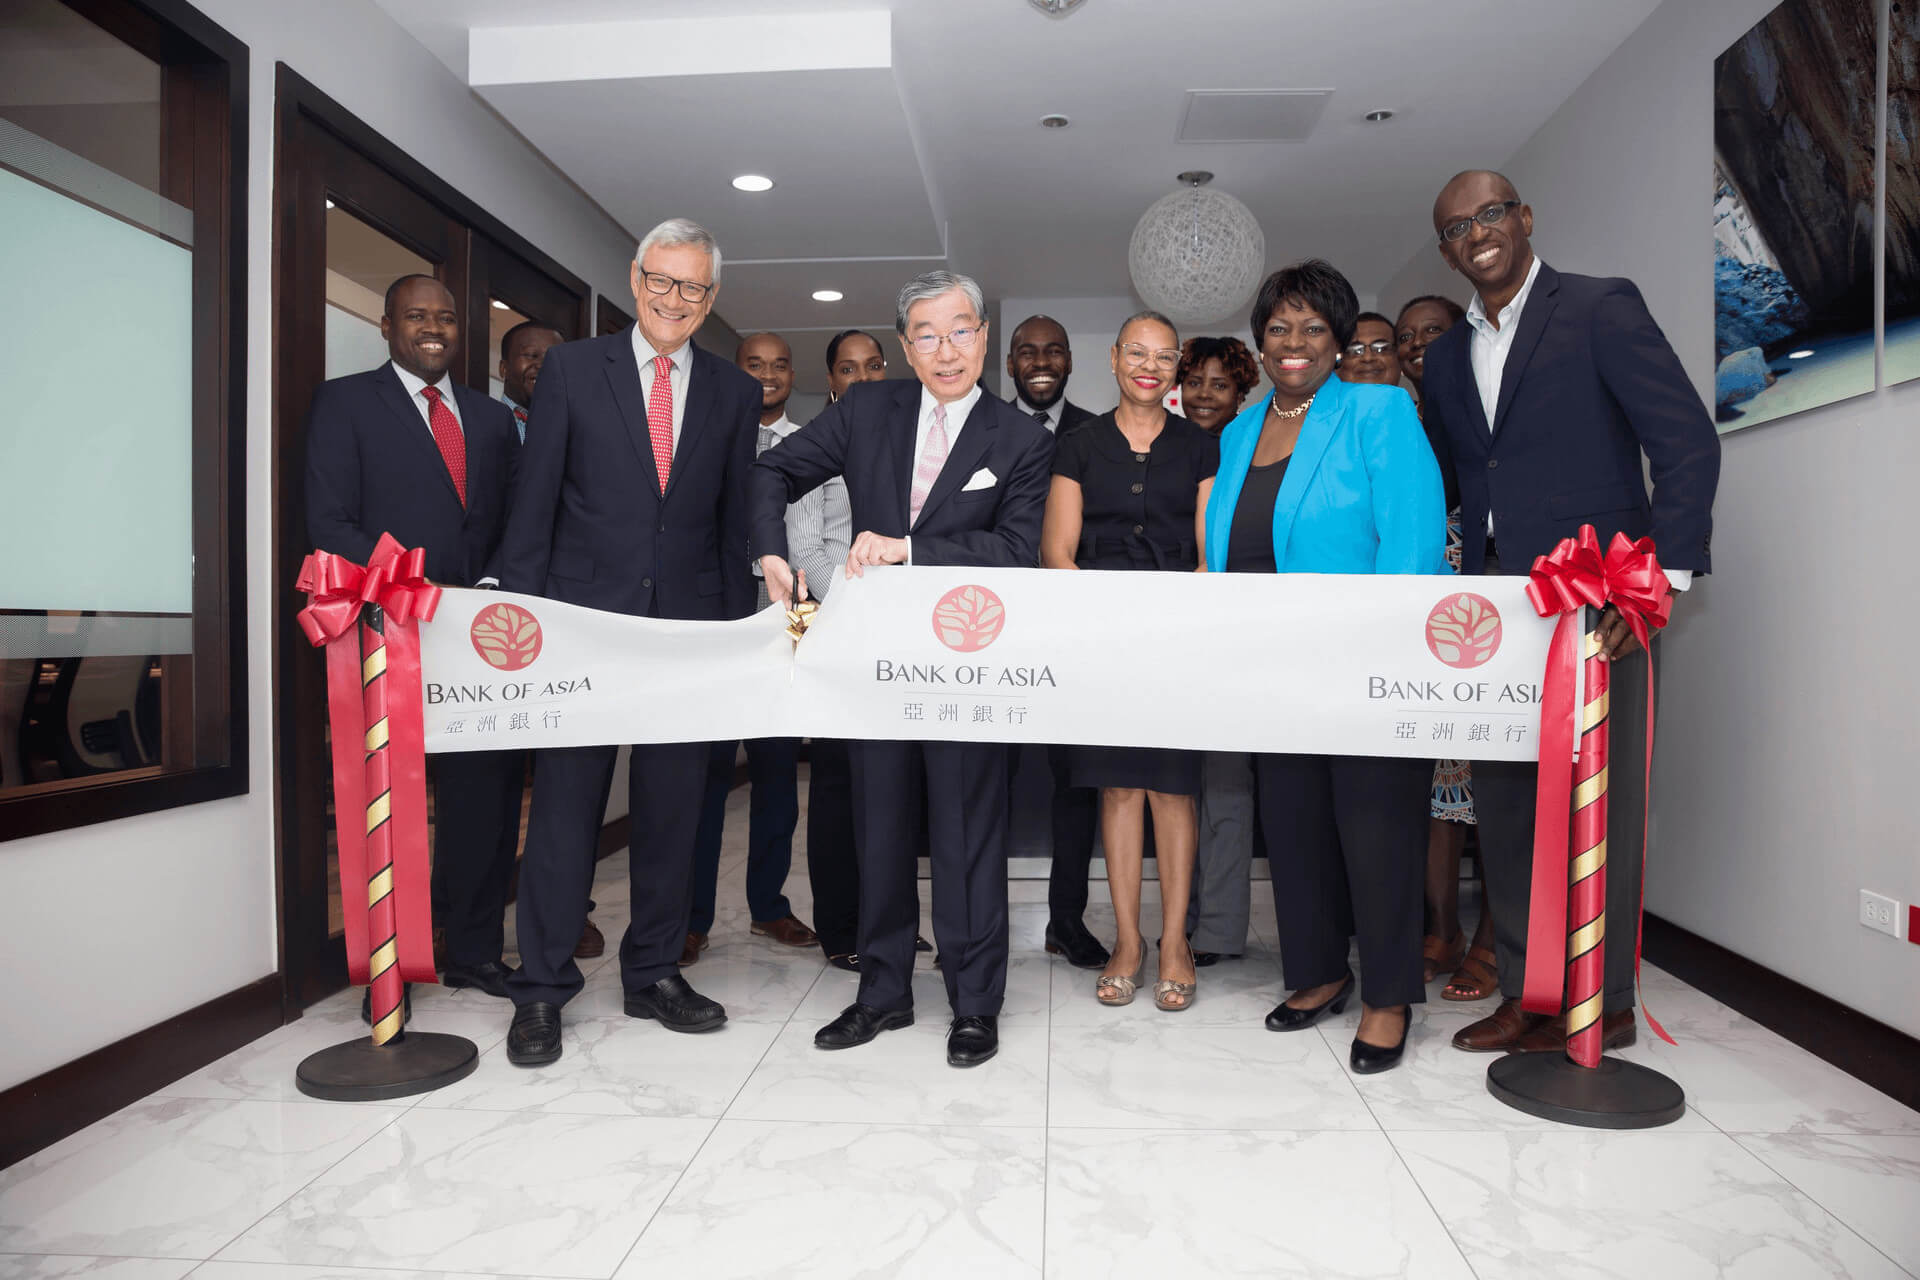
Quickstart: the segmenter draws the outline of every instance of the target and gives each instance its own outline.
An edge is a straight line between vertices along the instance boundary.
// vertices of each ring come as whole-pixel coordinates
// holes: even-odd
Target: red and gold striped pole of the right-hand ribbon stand
[[[1580,762],[1572,787],[1572,848],[1567,871],[1567,1057],[1599,1065],[1607,994],[1607,660],[1599,656],[1599,610],[1586,610],[1580,641]]]

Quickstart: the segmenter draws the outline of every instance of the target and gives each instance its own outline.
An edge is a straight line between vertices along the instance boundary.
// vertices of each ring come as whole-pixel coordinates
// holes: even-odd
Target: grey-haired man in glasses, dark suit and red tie
[[[720,288],[720,246],[670,219],[634,253],[634,328],[547,351],[501,545],[501,587],[639,618],[753,612],[747,468],[760,384],[691,344]],[[712,1031],[726,1009],[680,977],[707,743],[634,747],[632,923],[620,940],[628,1017]],[[520,869],[520,967],[507,1059],[561,1055],[561,1006],[593,883],[612,747],[534,756]]]

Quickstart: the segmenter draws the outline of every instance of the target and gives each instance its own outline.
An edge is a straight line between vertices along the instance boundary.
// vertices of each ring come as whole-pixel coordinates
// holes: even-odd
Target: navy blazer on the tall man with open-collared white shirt
[[[1436,338],[1423,388],[1427,424],[1450,455],[1442,464],[1459,476],[1461,572],[1486,562],[1488,512],[1509,574],[1582,524],[1603,547],[1615,533],[1651,533],[1667,568],[1713,568],[1720,436],[1632,280],[1540,263],[1492,422],[1471,340],[1465,320]]]

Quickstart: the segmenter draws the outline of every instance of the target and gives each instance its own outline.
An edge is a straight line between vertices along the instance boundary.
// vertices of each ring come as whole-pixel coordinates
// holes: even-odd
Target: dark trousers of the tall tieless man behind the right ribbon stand
[[[1659,641],[1653,670],[1659,672]],[[1634,1007],[1634,923],[1640,919],[1640,841],[1647,814],[1647,654],[1615,662],[1607,679],[1607,996],[1605,1011]],[[1486,902],[1494,912],[1500,994],[1519,1000],[1526,984],[1526,912],[1534,892],[1534,789],[1540,768],[1515,760],[1473,762],[1473,810],[1486,860]],[[1565,956],[1565,925],[1538,938]]]

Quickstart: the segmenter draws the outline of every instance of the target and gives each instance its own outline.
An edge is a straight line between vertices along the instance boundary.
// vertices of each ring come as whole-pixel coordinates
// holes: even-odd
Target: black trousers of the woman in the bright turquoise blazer
[[[1352,935],[1361,1000],[1377,1009],[1427,1000],[1421,908],[1432,773],[1432,760],[1254,756],[1286,986],[1338,983]]]

